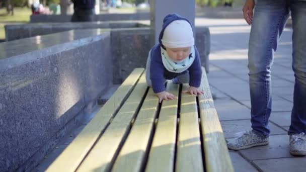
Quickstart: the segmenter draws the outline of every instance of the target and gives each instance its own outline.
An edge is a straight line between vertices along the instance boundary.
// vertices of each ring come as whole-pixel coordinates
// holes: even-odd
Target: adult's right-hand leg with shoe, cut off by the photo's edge
[[[306,2],[290,3],[292,17],[292,69],[295,76],[289,151],[293,155],[306,155]]]

